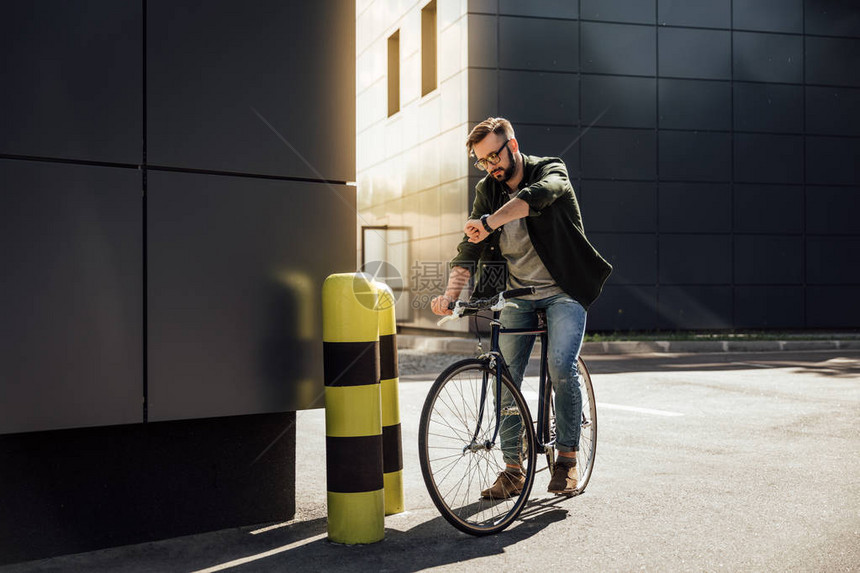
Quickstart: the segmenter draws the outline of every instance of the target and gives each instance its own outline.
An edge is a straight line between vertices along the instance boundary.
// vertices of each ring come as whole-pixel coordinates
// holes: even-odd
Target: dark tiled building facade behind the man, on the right
[[[854,0],[469,3],[469,119],[560,155],[598,330],[860,326]]]

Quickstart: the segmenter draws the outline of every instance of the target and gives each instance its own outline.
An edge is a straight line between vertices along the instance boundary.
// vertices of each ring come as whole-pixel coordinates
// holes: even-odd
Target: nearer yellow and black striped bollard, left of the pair
[[[363,274],[323,284],[328,537],[385,537],[377,289]]]

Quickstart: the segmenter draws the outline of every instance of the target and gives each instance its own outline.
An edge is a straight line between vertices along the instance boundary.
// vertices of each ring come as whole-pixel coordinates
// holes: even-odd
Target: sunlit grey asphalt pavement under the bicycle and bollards
[[[484,538],[427,495],[418,417],[453,356],[415,366],[419,354],[400,384],[407,510],[385,518],[384,541],[327,540],[324,412],[310,410],[297,414],[292,521],[0,571],[860,570],[860,350],[586,353],[598,403],[588,489],[552,496],[541,472],[518,522]]]

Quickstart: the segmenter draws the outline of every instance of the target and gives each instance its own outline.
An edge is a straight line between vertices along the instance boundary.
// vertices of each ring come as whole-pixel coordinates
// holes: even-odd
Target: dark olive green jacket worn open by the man
[[[508,202],[508,187],[489,174],[475,187],[472,219],[492,214]],[[529,205],[526,227],[535,251],[556,283],[586,309],[597,299],[612,265],[588,242],[579,204],[564,162],[557,157],[523,155],[523,180],[517,198]],[[480,243],[467,237],[451,266],[468,269],[475,279],[474,297],[505,289],[507,272],[496,229]]]

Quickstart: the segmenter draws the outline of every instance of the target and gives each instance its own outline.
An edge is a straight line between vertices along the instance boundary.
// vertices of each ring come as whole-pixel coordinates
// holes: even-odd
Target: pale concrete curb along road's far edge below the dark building
[[[483,337],[486,348],[489,339]],[[475,354],[477,340],[448,336],[401,334],[397,347],[445,354]],[[796,352],[800,350],[860,350],[860,340],[629,340],[586,342],[582,354],[687,354],[705,352]]]

